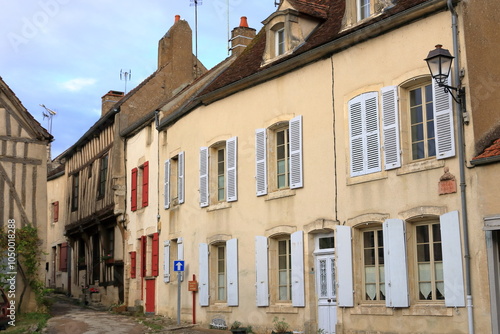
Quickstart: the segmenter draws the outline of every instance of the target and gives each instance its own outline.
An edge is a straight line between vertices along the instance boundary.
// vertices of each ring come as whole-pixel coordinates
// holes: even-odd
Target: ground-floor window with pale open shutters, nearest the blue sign
[[[201,306],[214,303],[238,306],[237,239],[219,240],[211,245],[199,244],[199,273]],[[210,301],[210,295],[215,296],[212,301]]]

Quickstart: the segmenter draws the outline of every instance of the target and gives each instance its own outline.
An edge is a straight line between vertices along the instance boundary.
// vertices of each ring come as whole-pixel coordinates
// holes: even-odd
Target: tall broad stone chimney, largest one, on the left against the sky
[[[170,64],[180,82],[193,76],[193,32],[185,20],[175,16],[174,25],[158,42],[158,68]],[[181,78],[184,77],[185,78]]]

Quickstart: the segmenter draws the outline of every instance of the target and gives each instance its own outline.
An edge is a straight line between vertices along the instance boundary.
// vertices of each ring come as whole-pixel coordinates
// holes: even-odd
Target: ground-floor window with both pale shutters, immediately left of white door
[[[303,249],[302,231],[255,237],[257,306],[270,302],[305,306]]]

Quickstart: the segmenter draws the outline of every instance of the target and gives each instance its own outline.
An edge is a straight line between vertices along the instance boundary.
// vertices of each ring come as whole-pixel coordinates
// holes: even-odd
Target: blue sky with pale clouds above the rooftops
[[[228,57],[228,26],[247,16],[258,32],[276,10],[274,0],[197,1],[198,58],[207,68]],[[47,130],[40,105],[57,113],[52,158],[99,119],[104,94],[125,84],[128,92],[156,70],[158,41],[175,15],[195,35],[194,0],[0,0],[0,77]],[[120,71],[131,72],[128,82]]]

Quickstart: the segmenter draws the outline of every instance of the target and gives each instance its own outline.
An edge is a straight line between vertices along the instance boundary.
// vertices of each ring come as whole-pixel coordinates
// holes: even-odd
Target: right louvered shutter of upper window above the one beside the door
[[[302,116],[290,120],[290,189],[302,188],[303,163],[302,163]]]

